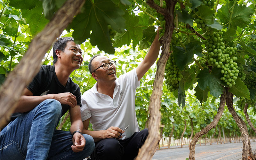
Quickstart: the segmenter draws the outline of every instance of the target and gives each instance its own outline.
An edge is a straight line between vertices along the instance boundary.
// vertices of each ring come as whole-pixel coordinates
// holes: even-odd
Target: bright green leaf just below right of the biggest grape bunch
[[[236,79],[236,85],[233,85],[228,92],[233,93],[236,97],[244,97],[250,99],[250,91],[239,78]]]

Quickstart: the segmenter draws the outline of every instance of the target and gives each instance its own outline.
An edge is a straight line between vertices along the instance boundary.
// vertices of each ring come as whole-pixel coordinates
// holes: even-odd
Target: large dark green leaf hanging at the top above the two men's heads
[[[100,50],[115,53],[108,34],[108,24],[113,30],[123,32],[124,12],[110,0],[94,0],[94,3],[86,1],[82,11],[68,27],[74,29],[75,42],[80,44],[90,38],[91,44],[97,45]]]

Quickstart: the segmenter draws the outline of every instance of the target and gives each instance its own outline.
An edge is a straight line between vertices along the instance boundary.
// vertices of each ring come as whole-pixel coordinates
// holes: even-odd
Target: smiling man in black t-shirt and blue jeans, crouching
[[[10,122],[0,132],[0,159],[84,159],[95,145],[82,134],[81,93],[70,74],[82,64],[82,51],[71,37],[53,45],[53,66],[42,65],[25,88]],[[69,110],[70,132],[56,130]]]

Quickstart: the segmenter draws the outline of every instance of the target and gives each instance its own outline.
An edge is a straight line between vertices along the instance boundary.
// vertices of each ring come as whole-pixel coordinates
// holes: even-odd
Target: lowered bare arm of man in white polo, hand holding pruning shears
[[[124,133],[124,131],[121,130],[120,128],[113,127],[113,126],[109,127],[107,130],[89,131],[88,130],[89,123],[90,123],[90,118],[83,121],[83,124],[84,124],[83,133],[91,135],[95,142],[100,141],[102,139],[106,139],[106,138],[118,138],[120,135],[119,132]],[[120,138],[122,138],[122,136]]]

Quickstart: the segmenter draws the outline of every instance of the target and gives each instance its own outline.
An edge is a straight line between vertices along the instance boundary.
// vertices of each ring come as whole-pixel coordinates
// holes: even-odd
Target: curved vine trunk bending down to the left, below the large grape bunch
[[[216,127],[217,123],[219,122],[219,120],[222,116],[222,113],[224,111],[226,97],[227,97],[227,94],[225,91],[223,91],[223,94],[221,94],[221,97],[220,97],[220,106],[218,108],[218,112],[217,112],[216,116],[214,116],[214,118],[213,118],[213,121],[209,125],[207,125],[204,129],[197,132],[195,134],[194,138],[192,139],[192,141],[189,143],[189,159],[190,160],[195,160],[195,152],[196,152],[195,147],[196,147],[196,142],[198,141],[199,137],[208,133],[212,128]]]

